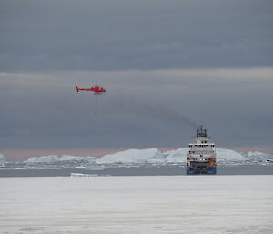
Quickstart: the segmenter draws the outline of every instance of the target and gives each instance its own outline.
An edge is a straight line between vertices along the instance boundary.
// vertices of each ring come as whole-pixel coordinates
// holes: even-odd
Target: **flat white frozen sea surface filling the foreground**
[[[273,233],[273,176],[0,178],[1,233]]]

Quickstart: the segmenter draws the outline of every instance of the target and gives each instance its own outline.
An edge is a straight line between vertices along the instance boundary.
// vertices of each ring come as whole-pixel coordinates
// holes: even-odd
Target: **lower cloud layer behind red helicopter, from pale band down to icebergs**
[[[179,147],[204,124],[222,146],[268,145],[273,68],[1,73],[0,148]],[[106,88],[95,98],[74,85]]]

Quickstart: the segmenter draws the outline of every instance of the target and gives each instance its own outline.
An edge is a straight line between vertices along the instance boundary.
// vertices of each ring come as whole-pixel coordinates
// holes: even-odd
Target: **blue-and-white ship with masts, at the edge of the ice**
[[[187,175],[217,173],[215,144],[210,141],[207,130],[203,129],[203,126],[197,129],[197,136],[188,144],[188,148]]]

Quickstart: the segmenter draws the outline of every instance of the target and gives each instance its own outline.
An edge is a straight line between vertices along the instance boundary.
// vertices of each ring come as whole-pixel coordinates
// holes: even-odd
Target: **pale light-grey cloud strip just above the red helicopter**
[[[211,85],[221,83],[242,83],[247,84],[270,84],[273,82],[272,67],[250,67],[250,68],[183,68],[183,69],[155,69],[155,70],[119,70],[119,71],[59,71],[45,73],[0,73],[2,84],[4,82],[17,84],[24,82],[27,86],[31,84],[37,85],[38,82],[50,84],[56,79],[71,82],[90,83],[100,80],[106,80],[111,85],[123,86],[124,83],[141,84],[147,80],[147,85],[152,85],[153,81],[160,81],[160,85],[166,83],[177,82],[184,84],[192,82],[193,79],[200,82],[203,81]],[[116,83],[121,82],[121,83]],[[162,82],[162,83],[161,83]],[[66,86],[66,83],[56,82],[55,86]],[[69,84],[70,85],[70,84]]]

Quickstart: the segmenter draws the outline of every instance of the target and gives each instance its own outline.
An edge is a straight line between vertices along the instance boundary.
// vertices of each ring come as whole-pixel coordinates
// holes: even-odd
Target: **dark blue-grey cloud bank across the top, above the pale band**
[[[271,1],[0,3],[2,71],[272,66]]]

